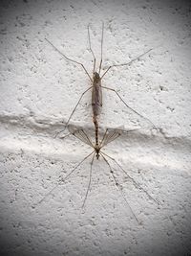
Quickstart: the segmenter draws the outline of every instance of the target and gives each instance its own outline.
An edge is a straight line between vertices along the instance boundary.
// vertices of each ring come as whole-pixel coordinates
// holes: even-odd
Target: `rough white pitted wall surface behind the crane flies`
[[[186,1],[1,1],[1,255],[191,255],[190,15]],[[36,205],[92,151],[74,137],[53,138],[90,83],[45,37],[91,72],[87,25],[98,60],[101,21],[103,68],[154,48],[102,81],[160,128],[123,134],[105,148],[159,200],[110,162],[139,224],[101,158],[84,210],[91,159]],[[90,97],[72,123],[94,137]],[[113,92],[103,92],[103,103],[102,131],[148,126]]]

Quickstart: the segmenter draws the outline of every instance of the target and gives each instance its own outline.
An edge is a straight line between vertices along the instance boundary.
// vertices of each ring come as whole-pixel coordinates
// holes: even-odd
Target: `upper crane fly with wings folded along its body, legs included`
[[[96,132],[96,143],[98,143],[98,138],[97,138],[97,134],[98,134],[98,121],[97,118],[101,112],[101,107],[102,107],[102,89],[106,89],[106,90],[110,90],[112,92],[114,92],[117,97],[119,98],[119,100],[123,103],[123,105],[125,105],[129,110],[131,110],[132,112],[136,113],[139,117],[143,118],[144,120],[146,120],[150,125],[152,125],[153,127],[155,127],[155,125],[146,117],[144,117],[143,115],[141,115],[140,113],[138,113],[138,111],[136,111],[135,109],[133,109],[130,105],[127,105],[125,103],[125,101],[121,98],[121,96],[118,94],[118,92],[110,87],[106,87],[106,86],[102,86],[102,79],[105,77],[105,75],[108,73],[108,71],[113,68],[113,67],[119,67],[119,66],[128,66],[131,65],[134,61],[138,60],[139,58],[143,57],[144,55],[148,54],[150,51],[152,51],[153,49],[149,49],[146,52],[144,52],[143,54],[139,55],[137,58],[133,58],[132,60],[130,60],[127,63],[121,63],[121,64],[114,64],[114,65],[110,65],[106,71],[103,72],[103,74],[101,75],[101,67],[102,67],[102,58],[103,58],[103,34],[104,34],[104,23],[102,22],[102,33],[101,33],[101,54],[100,54],[100,62],[98,64],[98,69],[96,70],[96,56],[94,54],[94,51],[92,49],[92,44],[91,44],[91,36],[90,36],[90,25],[88,25],[88,41],[89,41],[89,49],[93,55],[94,58],[94,67],[93,67],[93,76],[91,77],[90,74],[88,73],[87,69],[85,68],[84,64],[82,64],[81,62],[78,62],[72,58],[68,58],[65,54],[63,54],[58,48],[56,48],[53,43],[46,38],[46,40],[53,46],[53,49],[55,51],[57,51],[63,58],[68,59],[69,61],[74,62],[76,65],[80,65],[83,70],[85,71],[86,75],[88,76],[90,82],[91,82],[91,86],[89,88],[87,88],[80,96],[79,100],[77,101],[76,105],[74,105],[74,109],[71,113],[71,115],[69,116],[65,128],[63,130],[61,130],[60,132],[64,132],[64,130],[69,126],[69,123],[74,115],[74,111],[76,110],[77,106],[80,104],[82,98],[84,97],[84,95],[90,91],[92,89],[92,110],[93,110],[93,122],[95,125],[95,132]],[[58,132],[57,135],[60,133]]]

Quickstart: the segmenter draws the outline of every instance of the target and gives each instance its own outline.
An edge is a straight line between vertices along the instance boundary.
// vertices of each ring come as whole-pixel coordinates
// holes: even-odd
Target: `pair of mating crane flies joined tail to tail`
[[[134,214],[131,206],[129,205],[129,203],[127,202],[126,198],[124,197],[123,193],[122,193],[122,190],[120,189],[118,183],[117,183],[117,178],[116,176],[114,175],[114,171],[109,163],[109,159],[114,161],[117,166],[119,167],[119,169],[129,178],[132,180],[133,184],[135,185],[136,188],[138,188],[138,190],[144,192],[148,198],[150,199],[153,199],[154,201],[156,201],[157,203],[159,203],[155,198],[151,197],[149,195],[149,193],[144,190],[139,184],[138,182],[133,178],[131,177],[130,175],[127,174],[127,172],[117,163],[116,159],[109,156],[108,154],[106,154],[105,152],[102,151],[102,148],[106,145],[108,145],[109,143],[111,143],[112,141],[116,140],[117,137],[119,137],[123,132],[131,132],[131,131],[134,131],[134,130],[137,130],[139,128],[135,128],[135,129],[131,129],[131,130],[123,130],[123,129],[115,129],[115,128],[107,128],[106,131],[104,132],[103,134],[103,137],[102,139],[100,140],[99,139],[99,126],[98,126],[98,116],[100,115],[100,112],[101,112],[101,107],[102,107],[102,89],[105,89],[105,90],[110,90],[112,92],[114,92],[117,97],[119,98],[119,100],[123,103],[123,105],[125,105],[129,110],[131,110],[132,112],[134,112],[135,114],[137,114],[139,117],[141,117],[142,119],[146,120],[149,124],[150,124],[150,127],[147,127],[147,128],[156,128],[154,126],[154,124],[146,117],[142,116],[141,114],[139,114],[136,110],[134,110],[131,106],[127,105],[124,100],[120,97],[120,95],[117,93],[117,91],[113,88],[109,88],[109,87],[105,87],[105,86],[102,86],[101,84],[101,81],[102,79],[105,77],[105,75],[108,73],[108,71],[113,68],[113,67],[118,67],[118,66],[129,66],[131,65],[134,61],[138,60],[138,58],[141,58],[143,57],[144,55],[148,54],[152,49],[149,49],[148,51],[144,52],[143,54],[139,55],[137,58],[133,58],[131,61],[127,62],[127,63],[121,63],[121,64],[114,64],[114,65],[110,65],[106,71],[103,72],[103,74],[101,75],[101,67],[102,67],[102,55],[103,55],[103,32],[104,32],[104,23],[102,23],[102,34],[101,34],[101,58],[100,58],[100,62],[99,62],[99,65],[98,65],[98,70],[96,71],[96,56],[93,52],[93,49],[92,49],[92,45],[91,45],[91,37],[90,37],[90,27],[88,26],[88,40],[89,40],[89,49],[93,55],[93,58],[94,58],[94,67],[93,67],[93,77],[91,77],[87,71],[87,69],[85,68],[85,66],[72,59],[72,58],[68,58],[65,56],[65,54],[63,54],[60,50],[58,50],[54,45],[53,43],[48,40],[46,38],[46,40],[53,46],[53,48],[63,57],[63,58],[66,58],[67,60],[69,61],[72,61],[74,62],[76,65],[80,65],[83,70],[85,71],[86,75],[88,76],[89,80],[91,81],[91,86],[86,89],[80,96],[78,102],[76,103],[76,105],[74,106],[74,109],[70,115],[70,117],[68,118],[68,121],[66,122],[66,125],[65,125],[65,128],[68,128],[70,133],[65,135],[65,136],[61,136],[60,138],[64,139],[66,138],[67,136],[69,135],[74,135],[74,137],[76,137],[77,139],[81,140],[83,143],[87,144],[88,146],[90,146],[91,148],[94,149],[94,151],[92,151],[90,154],[88,154],[86,157],[83,158],[83,160],[81,162],[79,162],[75,167],[74,169],[68,174],[66,175],[64,178],[63,177],[60,177],[60,180],[58,181],[58,183],[56,184],[56,186],[53,187],[53,189],[47,194],[45,195],[44,198],[42,198],[40,200],[40,202],[42,200],[44,200],[47,196],[49,196],[51,193],[53,193],[53,190],[60,184],[64,183],[64,181],[74,173],[74,171],[87,159],[89,158],[90,156],[93,156],[92,157],[92,161],[91,161],[91,168],[90,168],[90,176],[89,176],[89,183],[88,183],[88,188],[87,188],[87,191],[86,191],[86,195],[85,195],[85,198],[84,198],[84,201],[83,201],[83,205],[85,205],[85,201],[88,197],[88,193],[90,191],[90,187],[91,187],[91,179],[92,179],[92,169],[93,169],[93,163],[94,163],[94,160],[95,160],[95,157],[96,159],[99,158],[99,156],[101,156],[103,158],[103,160],[106,162],[106,164],[108,165],[109,169],[110,169],[110,173],[111,175],[113,176],[113,179],[115,181],[115,184],[117,185],[117,189],[120,191],[122,197],[124,198],[125,202],[128,204],[128,207],[130,208],[131,212],[133,213],[134,217],[136,218],[136,220],[138,221],[136,215]],[[87,134],[87,132],[83,129],[83,128],[73,128],[71,125],[70,125],[70,121],[74,115],[74,111],[76,110],[77,106],[80,104],[80,101],[82,100],[83,96],[88,92],[92,90],[92,110],[93,110],[93,123],[94,123],[94,126],[95,126],[95,142],[93,143],[93,141],[91,140],[90,136]],[[62,130],[61,132],[63,132],[64,130]]]

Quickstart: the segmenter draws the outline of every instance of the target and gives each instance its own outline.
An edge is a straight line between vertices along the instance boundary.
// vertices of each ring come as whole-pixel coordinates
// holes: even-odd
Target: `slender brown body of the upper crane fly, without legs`
[[[101,78],[98,73],[93,75],[93,90],[92,90],[92,109],[93,109],[93,122],[95,124],[96,146],[98,145],[98,115],[102,107],[102,90]]]

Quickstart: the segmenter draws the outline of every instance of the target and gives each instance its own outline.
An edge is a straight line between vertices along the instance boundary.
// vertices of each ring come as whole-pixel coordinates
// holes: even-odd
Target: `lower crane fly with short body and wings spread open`
[[[135,128],[135,129],[132,129],[132,130],[128,130],[127,132],[130,133],[130,132],[133,132],[135,130],[138,130],[139,128]],[[92,139],[90,138],[90,136],[87,134],[87,132],[83,129],[83,128],[80,128],[80,129],[76,129],[74,128],[73,126],[69,126],[69,130],[70,130],[70,135],[73,135],[75,138],[79,139],[80,141],[82,141],[83,143],[85,143],[86,145],[90,146],[93,151],[91,151],[88,155],[86,155],[75,167],[74,169],[68,174],[66,175],[65,177],[62,177],[60,176],[59,178],[59,181],[56,183],[56,185],[53,187],[53,189],[47,193],[44,198],[42,198],[38,203],[41,203],[43,200],[45,200],[45,198],[47,198],[48,196],[50,196],[53,191],[59,186],[59,185],[62,185],[64,184],[64,182],[71,176],[74,174],[74,172],[77,170],[77,168],[86,160],[88,159],[89,157],[92,156],[92,160],[91,160],[91,168],[90,168],[90,175],[89,175],[89,182],[88,182],[88,187],[87,187],[87,191],[86,191],[86,194],[85,194],[85,198],[83,200],[83,204],[82,204],[82,208],[85,206],[85,202],[86,202],[86,199],[88,198],[88,193],[90,191],[90,188],[91,188],[91,181],[92,181],[92,172],[93,172],[93,163],[94,163],[94,160],[95,158],[98,160],[99,157],[102,157],[102,159],[106,162],[107,166],[109,167],[109,170],[110,170],[110,174],[112,175],[113,179],[114,179],[114,182],[117,186],[117,189],[118,191],[120,192],[122,198],[124,199],[124,201],[126,202],[127,206],[129,207],[129,209],[131,210],[133,216],[135,217],[136,221],[138,221],[138,218],[136,217],[134,211],[132,210],[130,204],[128,203],[127,199],[124,197],[123,195],[123,192],[122,192],[122,189],[120,188],[118,182],[117,182],[117,178],[114,174],[114,170],[113,168],[111,167],[111,164],[110,164],[110,160],[115,162],[118,166],[118,168],[120,169],[120,171],[122,171],[126,176],[127,178],[129,178],[134,186],[138,189],[138,191],[142,191],[144,192],[148,198],[154,200],[156,203],[159,204],[159,201],[155,198],[153,198],[144,188],[142,188],[140,186],[140,184],[130,175],[127,174],[127,172],[118,164],[117,160],[113,157],[111,157],[110,155],[108,155],[107,153],[105,153],[103,151],[103,148],[105,146],[107,146],[109,143],[115,141],[123,132],[124,130],[120,130],[120,129],[110,129],[110,128],[107,128],[106,131],[104,132],[103,134],[103,137],[102,139],[98,142],[98,144],[96,144],[96,140],[95,142],[92,141]],[[66,136],[69,136],[69,134],[67,134]],[[65,136],[65,137],[66,137]],[[63,138],[65,138],[63,137]]]

